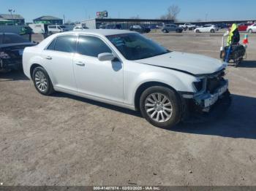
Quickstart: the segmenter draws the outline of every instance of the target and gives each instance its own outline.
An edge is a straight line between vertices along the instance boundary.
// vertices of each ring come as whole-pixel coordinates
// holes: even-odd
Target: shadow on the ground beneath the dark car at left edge
[[[6,81],[18,81],[18,80],[29,80],[28,77],[23,73],[22,70],[19,71],[0,71],[0,82]]]

